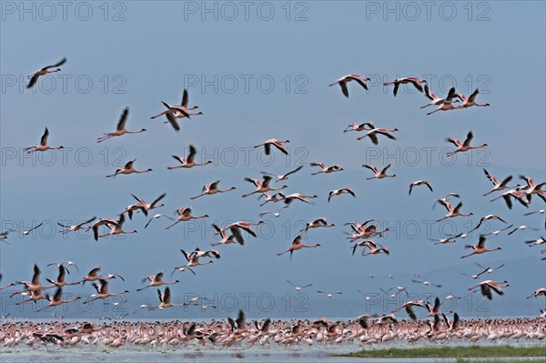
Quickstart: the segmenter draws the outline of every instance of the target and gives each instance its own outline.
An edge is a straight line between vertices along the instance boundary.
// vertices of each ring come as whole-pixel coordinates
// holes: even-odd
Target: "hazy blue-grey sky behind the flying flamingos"
[[[388,310],[367,307],[357,289],[371,294],[398,285],[416,294],[466,296],[475,281],[459,272],[478,272],[474,262],[480,262],[491,267],[506,263],[486,278],[507,279],[511,287],[504,297],[489,302],[488,311],[479,310],[482,300],[473,301],[462,316],[534,316],[544,308],[543,300],[524,298],[545,285],[546,267],[540,247],[523,243],[543,230],[491,237],[488,245],[501,251],[467,260],[459,257],[466,253],[468,240],[433,246],[427,239],[449,234],[450,228],[467,231],[491,213],[515,226],[543,227],[543,215],[522,216],[544,207],[538,198],[529,210],[519,205],[509,210],[501,201],[481,197],[490,189],[482,167],[498,177],[512,175],[514,181],[520,174],[539,182],[546,177],[543,3],[475,2],[469,7],[438,2],[428,15],[420,3],[392,2],[389,12],[384,2],[256,2],[249,5],[248,19],[237,2],[209,3],[213,10],[208,13],[201,2],[113,2],[107,14],[99,7],[102,3],[90,3],[91,13],[86,5],[74,3],[66,9],[66,20],[58,5],[54,16],[38,3],[25,3],[28,12],[20,4],[2,3],[0,218],[3,229],[46,223],[34,236],[11,234],[11,245],[0,247],[2,284],[30,278],[35,262],[43,279],[56,277],[55,268],[45,265],[68,259],[76,261],[82,274],[100,265],[104,272],[126,277],[125,283],[115,280],[110,288],[132,290],[127,306],[156,304],[151,288],[134,291],[139,280],[162,269],[168,275],[182,265],[179,248],[203,249],[215,242],[213,221],[256,221],[260,211],[277,210],[278,205],[260,208],[255,197],[240,197],[252,190],[245,176],[258,177],[263,170],[283,174],[296,165],[322,161],[345,170],[310,176],[311,168],[305,167],[286,183],[288,193],[319,195],[316,205],[295,204],[279,218],[265,217],[268,223],[259,238],[249,238],[244,247],[220,247],[222,257],[214,264],[197,268],[195,277],[181,276],[182,283],[172,287],[173,299],[188,292],[269,293],[280,307],[284,294],[294,293],[285,282],[289,278],[314,284],[307,290],[308,312],[294,311],[292,304],[279,311],[250,308],[253,314],[351,317],[367,308]],[[230,12],[234,4],[237,16]],[[63,56],[68,61],[61,72],[45,76],[35,90],[25,89],[24,76]],[[350,84],[345,98],[338,86],[328,86],[350,73],[369,76],[369,92]],[[450,86],[464,94],[480,87],[478,101],[491,106],[426,116],[420,109],[428,103],[423,95],[404,87],[394,97],[391,86],[381,86],[397,76],[426,77],[439,96]],[[203,116],[183,122],[178,134],[162,118],[149,119],[163,110],[160,101],[178,103],[185,86],[190,105],[198,105]],[[96,137],[114,130],[126,106],[127,128],[145,127],[147,132],[96,144]],[[379,146],[372,146],[369,140],[357,141],[356,133],[343,134],[349,123],[366,120],[399,128],[398,139],[379,139]],[[50,145],[66,149],[25,156],[21,148],[35,145],[45,126]],[[445,138],[463,139],[469,130],[475,144],[489,147],[456,160],[444,158],[450,149]],[[269,160],[251,148],[271,137],[290,140],[289,159],[274,151],[275,159]],[[174,165],[170,156],[184,155],[190,144],[197,146],[198,158],[205,155],[213,165],[167,170]],[[115,180],[104,177],[133,158],[137,168],[154,171]],[[391,163],[389,171],[397,177],[366,180],[370,175],[361,167],[364,163]],[[237,190],[189,200],[217,179],[220,186]],[[429,179],[434,192],[417,188],[408,197],[408,185],[419,179]],[[356,198],[334,197],[327,203],[329,190],[346,186],[355,189]],[[431,224],[444,215],[440,207],[431,209],[432,202],[452,191],[462,196],[463,211],[474,216]],[[89,236],[65,238],[52,229],[58,220],[115,217],[133,202],[130,193],[153,200],[163,192],[166,207],[158,213],[193,206],[197,215],[210,218],[169,230],[164,229],[167,220],[160,219],[144,230],[147,220],[136,216],[126,228],[139,233],[98,243]],[[291,262],[276,256],[289,247],[301,221],[317,217],[336,224],[309,232],[306,243],[321,247],[298,251]],[[372,218],[391,229],[380,241],[390,248],[390,256],[351,257],[343,223]],[[490,231],[501,227],[492,224]],[[477,238],[472,235],[471,244]],[[410,282],[416,273],[443,287]],[[317,289],[343,295],[326,300]],[[73,294],[91,290],[66,288]],[[5,298],[3,315],[40,316],[30,308],[15,313]],[[89,314],[104,314],[103,307]],[[216,313],[196,309],[192,317],[215,314],[226,315],[226,308]]]

